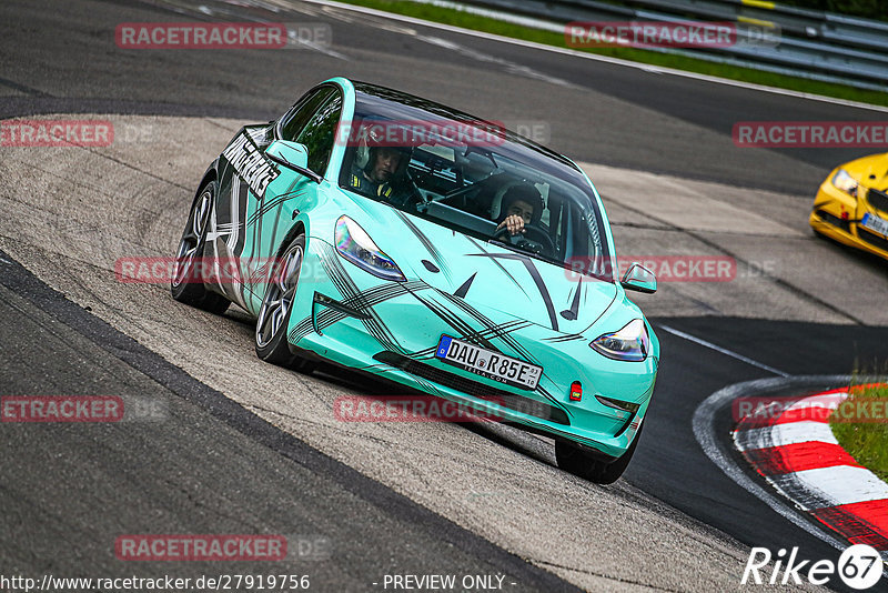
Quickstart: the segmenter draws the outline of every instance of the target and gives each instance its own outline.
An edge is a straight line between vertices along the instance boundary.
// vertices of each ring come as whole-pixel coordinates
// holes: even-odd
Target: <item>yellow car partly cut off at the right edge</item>
[[[847,162],[820,185],[814,232],[888,260],[888,153]]]

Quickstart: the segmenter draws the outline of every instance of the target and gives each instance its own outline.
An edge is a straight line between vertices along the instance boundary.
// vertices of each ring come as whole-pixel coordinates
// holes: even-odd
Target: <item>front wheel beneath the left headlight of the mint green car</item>
[[[290,323],[304,253],[305,234],[301,233],[275,259],[269,274],[269,287],[262,298],[254,335],[256,356],[272,364],[311,373],[314,369],[313,361],[291,352],[286,340],[286,326]]]

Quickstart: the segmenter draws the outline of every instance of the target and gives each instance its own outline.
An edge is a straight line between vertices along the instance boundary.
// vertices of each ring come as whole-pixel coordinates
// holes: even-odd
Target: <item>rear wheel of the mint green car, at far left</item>
[[[222,314],[231,302],[215,292],[210,292],[194,272],[194,260],[203,258],[206,242],[206,230],[213,204],[215,203],[216,183],[209,181],[198,192],[198,199],[191,207],[185,230],[179,240],[175,251],[175,268],[170,282],[173,299],[181,303],[196,306],[215,314]]]

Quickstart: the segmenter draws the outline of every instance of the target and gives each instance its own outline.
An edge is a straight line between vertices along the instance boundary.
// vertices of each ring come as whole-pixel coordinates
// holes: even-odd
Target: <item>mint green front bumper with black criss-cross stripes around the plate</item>
[[[619,328],[608,328],[612,331]],[[434,355],[442,334],[543,366],[534,391],[454,368]],[[310,238],[289,326],[290,343],[334,363],[470,405],[507,422],[616,458],[637,433],[657,372],[602,356],[585,335],[568,335],[444,293],[422,280],[387,282]],[[655,353],[658,355],[658,353]],[[569,398],[583,385],[582,401]],[[637,403],[614,409],[595,395]]]

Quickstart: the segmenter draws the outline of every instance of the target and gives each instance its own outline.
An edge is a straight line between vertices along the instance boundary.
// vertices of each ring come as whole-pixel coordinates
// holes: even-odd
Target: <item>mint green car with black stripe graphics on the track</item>
[[[659,342],[618,279],[602,201],[569,159],[392,89],[333,78],[246,125],[206,170],[172,294],[256,318],[256,354],[395,381],[552,436],[617,480]]]

